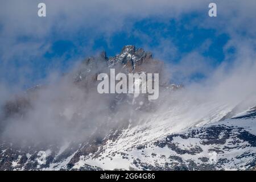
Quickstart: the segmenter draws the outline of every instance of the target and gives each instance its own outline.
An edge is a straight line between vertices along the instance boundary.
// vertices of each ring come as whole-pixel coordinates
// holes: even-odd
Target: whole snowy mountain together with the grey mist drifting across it
[[[97,75],[110,68],[159,73],[159,98],[99,94]],[[89,57],[3,101],[0,169],[254,168],[255,70],[248,59],[225,74],[222,67],[207,80],[177,85],[172,65],[142,48]]]

